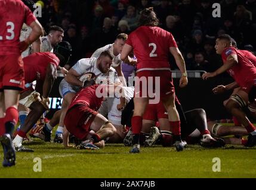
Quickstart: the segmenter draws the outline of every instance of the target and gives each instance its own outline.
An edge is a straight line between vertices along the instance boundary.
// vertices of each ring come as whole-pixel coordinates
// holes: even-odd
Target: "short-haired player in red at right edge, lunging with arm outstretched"
[[[245,126],[249,133],[246,146],[252,147],[256,145],[256,130],[255,126],[252,125],[246,117],[242,107],[248,105],[248,94],[252,87],[256,85],[256,67],[240,50],[232,47],[232,38],[227,34],[223,34],[217,38],[215,49],[223,59],[223,66],[214,72],[203,74],[202,78],[205,80],[227,71],[234,78],[236,83],[238,83],[240,90],[229,99],[226,108],[238,119],[240,124]]]

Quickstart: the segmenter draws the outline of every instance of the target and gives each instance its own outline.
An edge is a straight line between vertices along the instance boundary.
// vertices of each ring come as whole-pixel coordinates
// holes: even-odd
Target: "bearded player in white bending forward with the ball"
[[[63,97],[63,102],[61,105],[60,124],[57,128],[58,133],[55,135],[56,141],[54,139],[55,142],[61,142],[57,141],[57,138],[59,140],[62,139],[64,116],[66,115],[67,107],[69,106],[72,98],[84,85],[81,77],[83,74],[86,72],[93,72],[97,77],[97,84],[121,84],[115,69],[110,66],[112,64],[112,59],[110,59],[110,56],[112,56],[112,53],[109,51],[104,51],[101,53],[99,58],[80,59],[74,66],[72,66],[66,77],[61,81],[59,90],[61,96]],[[53,126],[51,126],[49,123],[45,125],[43,129],[45,140],[50,141],[52,129]]]

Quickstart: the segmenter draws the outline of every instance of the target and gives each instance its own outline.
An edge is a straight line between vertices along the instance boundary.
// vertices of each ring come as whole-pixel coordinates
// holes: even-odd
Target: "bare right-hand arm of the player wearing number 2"
[[[169,47],[169,51],[171,54],[174,56],[175,62],[180,69],[180,72],[182,73],[181,78],[180,78],[180,87],[185,87],[188,83],[187,80],[187,71],[186,71],[186,65],[184,58],[178,49],[178,47]]]

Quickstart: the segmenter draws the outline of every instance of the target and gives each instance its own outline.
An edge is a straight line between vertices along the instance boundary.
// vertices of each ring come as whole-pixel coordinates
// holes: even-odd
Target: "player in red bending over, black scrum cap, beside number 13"
[[[23,59],[25,81],[26,83],[32,83],[32,81],[36,80],[36,87],[35,91],[29,87],[21,93],[21,98],[23,99],[20,100],[20,103],[25,107],[29,107],[31,112],[29,112],[24,120],[24,124],[21,124],[20,130],[13,140],[17,151],[32,151],[29,148],[23,147],[23,138],[26,137],[27,132],[36,124],[36,121],[38,121],[45,110],[49,109],[48,96],[53,87],[57,67],[60,60],[63,61],[61,65],[66,63],[63,56],[57,52],[55,53],[60,59],[50,52],[32,53],[32,55]]]

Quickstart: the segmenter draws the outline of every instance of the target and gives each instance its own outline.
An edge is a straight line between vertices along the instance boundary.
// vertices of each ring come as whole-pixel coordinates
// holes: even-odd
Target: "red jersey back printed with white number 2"
[[[138,69],[169,68],[169,47],[177,47],[171,33],[160,27],[141,26],[128,37],[134,49]]]

